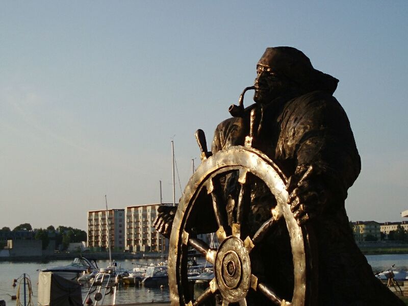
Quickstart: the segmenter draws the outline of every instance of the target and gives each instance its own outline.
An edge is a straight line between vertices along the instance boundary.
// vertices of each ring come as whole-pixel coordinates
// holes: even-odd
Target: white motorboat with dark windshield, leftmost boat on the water
[[[82,274],[97,271],[99,268],[96,260],[78,257],[72,263],[66,266],[58,266],[41,270],[42,272],[53,272],[67,279],[77,279]]]

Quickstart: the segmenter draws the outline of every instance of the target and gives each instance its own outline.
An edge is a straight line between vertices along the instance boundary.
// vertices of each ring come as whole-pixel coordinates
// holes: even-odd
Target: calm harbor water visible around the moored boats
[[[408,270],[408,254],[385,254],[385,255],[367,255],[368,263],[371,265],[374,272],[386,270],[390,266],[395,264],[395,269]],[[156,263],[158,260],[137,260],[137,263],[151,264]],[[117,262],[121,268],[132,270],[132,260],[123,260]],[[68,265],[71,261],[51,261],[47,263],[23,263],[23,262],[0,262],[0,300],[5,300],[7,305],[15,305],[16,302],[11,300],[12,295],[17,294],[19,281],[17,286],[13,287],[13,279],[20,278],[24,273],[30,277],[32,290],[33,290],[33,302],[37,305],[37,292],[38,292],[38,275],[41,269],[50,268],[53,266]],[[99,267],[107,267],[109,261],[98,261]],[[22,283],[20,285],[20,299],[22,300],[23,288]],[[88,288],[82,289],[83,297],[85,297]],[[105,299],[105,304],[111,302],[112,296],[108,296]],[[132,302],[151,302],[151,301],[168,301],[169,289],[165,288],[144,288],[144,287],[120,287],[116,292],[116,304],[132,303]]]

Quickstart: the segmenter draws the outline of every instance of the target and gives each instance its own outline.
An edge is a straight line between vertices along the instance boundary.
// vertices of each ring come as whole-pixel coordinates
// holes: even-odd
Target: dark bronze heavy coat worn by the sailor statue
[[[330,191],[320,214],[310,221],[318,244],[319,305],[403,305],[375,278],[354,242],[344,201],[360,173],[361,162],[350,123],[336,98],[325,91],[313,91],[277,98],[262,108],[257,148],[287,177],[300,165],[313,165],[315,179]],[[248,133],[249,112],[242,118],[227,119],[217,126],[212,151],[243,145]],[[253,188],[252,192],[263,191]],[[281,253],[281,260],[285,254],[270,252],[275,258],[276,252]]]

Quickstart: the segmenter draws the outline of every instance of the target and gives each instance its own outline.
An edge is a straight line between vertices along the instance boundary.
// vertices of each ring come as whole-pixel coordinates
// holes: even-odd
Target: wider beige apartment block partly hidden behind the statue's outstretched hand
[[[153,226],[160,205],[172,206],[166,203],[126,207],[126,250],[167,252],[168,239],[162,239]]]

